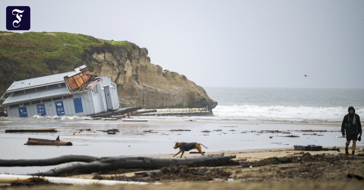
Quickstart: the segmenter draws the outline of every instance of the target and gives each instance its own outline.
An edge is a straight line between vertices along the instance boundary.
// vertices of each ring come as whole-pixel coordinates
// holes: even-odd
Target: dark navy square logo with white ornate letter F
[[[30,29],[30,7],[9,6],[6,8],[7,30],[29,30]]]

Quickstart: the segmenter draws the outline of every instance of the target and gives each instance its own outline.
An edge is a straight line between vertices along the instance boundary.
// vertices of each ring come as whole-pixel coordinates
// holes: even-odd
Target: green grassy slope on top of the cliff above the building
[[[67,32],[0,31],[0,93],[14,80],[73,71],[83,64],[92,69],[93,65],[87,62],[89,54],[114,45],[131,51],[135,44]]]

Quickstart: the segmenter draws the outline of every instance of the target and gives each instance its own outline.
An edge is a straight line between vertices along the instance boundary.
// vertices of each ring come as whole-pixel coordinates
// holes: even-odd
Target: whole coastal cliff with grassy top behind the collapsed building
[[[117,84],[120,107],[143,106],[143,99],[146,108],[211,110],[217,105],[186,76],[151,64],[148,50],[134,43],[66,32],[7,34],[0,35],[2,93],[13,80],[68,72],[86,64]]]

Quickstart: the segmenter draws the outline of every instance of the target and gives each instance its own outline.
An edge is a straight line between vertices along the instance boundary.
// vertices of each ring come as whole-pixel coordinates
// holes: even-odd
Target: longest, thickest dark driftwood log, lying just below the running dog
[[[99,158],[90,163],[76,163],[71,166],[40,172],[30,175],[59,176],[66,173],[77,172],[79,174],[91,174],[99,171],[123,169],[159,169],[163,166],[186,165],[198,166],[223,166],[229,163],[236,155],[224,157],[223,155],[208,155],[191,158],[152,158],[152,157],[107,157]]]

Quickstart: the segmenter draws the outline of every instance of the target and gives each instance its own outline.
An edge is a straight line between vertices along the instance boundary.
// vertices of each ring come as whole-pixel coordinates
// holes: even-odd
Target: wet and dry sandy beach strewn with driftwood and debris
[[[139,119],[139,118],[138,118]],[[136,119],[137,120],[137,119]],[[340,158],[337,161],[320,160],[324,155],[337,155],[344,151],[344,138],[340,136],[339,124],[320,123],[248,123],[237,121],[161,121],[150,120],[148,122],[122,122],[110,120],[39,120],[39,119],[18,119],[17,123],[27,123],[31,128],[58,126],[60,132],[52,133],[4,133],[6,129],[16,129],[8,120],[2,120],[3,128],[0,132],[0,139],[8,146],[0,149],[0,159],[39,159],[53,158],[61,155],[91,155],[97,157],[105,156],[146,156],[156,158],[173,158],[178,149],[173,149],[174,143],[198,142],[209,149],[202,147],[206,155],[236,155],[233,159],[238,165],[218,167],[220,170],[229,173],[229,177],[218,177],[213,180],[202,180],[176,177],[173,179],[159,180],[164,185],[155,186],[102,186],[102,189],[154,189],[171,188],[182,189],[305,189],[304,181],[309,181],[312,187],[325,189],[328,186],[333,189],[342,189],[342,184],[347,183],[348,173],[364,174],[362,161],[351,158]],[[91,131],[80,131],[90,128]],[[107,135],[102,130],[111,128],[119,129],[116,135]],[[173,131],[183,129],[186,131]],[[303,132],[301,130],[322,130],[323,132]],[[150,131],[150,132],[145,132]],[[209,131],[209,132],[203,132]],[[278,131],[278,132],[272,132]],[[307,134],[307,135],[304,135]],[[60,135],[62,140],[71,140],[74,144],[70,147],[53,146],[25,146],[28,137],[53,139]],[[297,135],[299,137],[286,137]],[[272,136],[273,138],[269,138]],[[218,139],[218,140],[216,140]],[[6,143],[9,142],[9,143]],[[337,151],[296,151],[293,145],[320,145],[325,148],[336,146]],[[328,145],[328,146],[327,146]],[[362,154],[360,148],[363,144],[358,142],[356,154]],[[16,150],[16,151],[14,151]],[[56,150],[56,151],[55,151]],[[191,150],[196,151],[196,150]],[[351,150],[349,150],[351,151]],[[180,157],[177,155],[176,158]],[[317,155],[317,156],[316,156]],[[185,152],[183,158],[201,156]],[[310,159],[309,162],[295,162],[272,164],[272,158],[286,159],[298,157]],[[320,158],[319,158],[320,157]],[[347,161],[349,160],[349,161]],[[321,162],[323,161],[323,162]],[[262,164],[264,163],[264,164]],[[311,164],[311,165],[309,165]],[[312,165],[313,164],[313,165]],[[64,167],[68,164],[44,167],[0,167],[1,173],[27,174],[36,171],[47,171],[50,169]],[[252,168],[249,166],[252,165]],[[197,168],[206,170],[206,167]],[[212,169],[213,167],[211,167]],[[317,170],[315,169],[317,168]],[[112,173],[94,173],[81,175],[67,175],[74,178],[102,178],[127,180],[135,176],[136,171],[142,170],[118,170]],[[234,181],[227,183],[227,178]],[[357,179],[350,179],[357,181]],[[337,181],[340,181],[337,182]],[[264,183],[261,183],[264,182]],[[324,182],[324,183],[321,183]],[[282,184],[284,184],[282,186]],[[301,185],[297,185],[301,184]],[[357,183],[353,183],[357,184]],[[359,184],[359,183],[358,183]],[[16,187],[11,187],[16,188]],[[20,189],[24,187],[18,187]],[[35,189],[46,188],[35,186]],[[52,186],[52,189],[82,189],[84,187]],[[91,186],[89,188],[100,188]]]

